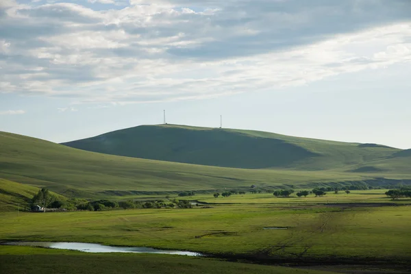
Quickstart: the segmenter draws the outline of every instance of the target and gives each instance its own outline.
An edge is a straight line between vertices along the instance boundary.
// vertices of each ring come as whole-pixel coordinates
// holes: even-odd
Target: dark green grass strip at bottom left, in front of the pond
[[[90,254],[75,251],[36,249],[30,247],[0,247],[1,273],[97,273],[97,274],[332,274],[325,271],[290,269],[282,266],[262,266],[223,262],[214,259],[162,256],[151,254]]]

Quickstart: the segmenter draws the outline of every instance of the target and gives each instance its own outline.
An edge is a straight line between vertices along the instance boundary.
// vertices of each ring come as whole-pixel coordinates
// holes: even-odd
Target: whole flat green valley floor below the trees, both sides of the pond
[[[264,193],[215,199],[202,195],[192,199],[208,205],[184,210],[3,212],[0,240],[96,242],[199,251],[225,260],[303,266],[314,271],[407,273],[411,267],[411,200],[392,201],[382,193],[358,190],[322,198],[275,198]],[[129,269],[133,270],[130,273],[290,271],[212,258],[88,254],[33,247],[0,246],[0,254],[2,273],[30,273],[29,267],[38,269],[32,273],[53,267],[58,273],[97,273],[97,269],[113,273],[119,267],[125,269],[122,273]]]

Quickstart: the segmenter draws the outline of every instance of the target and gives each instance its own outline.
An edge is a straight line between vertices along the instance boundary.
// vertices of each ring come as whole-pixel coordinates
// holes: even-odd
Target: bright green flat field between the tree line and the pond
[[[5,212],[0,239],[157,247],[270,264],[409,267],[410,199],[395,201],[402,204],[395,206],[375,190],[301,199],[269,194],[207,196],[196,199],[213,201],[211,208]]]

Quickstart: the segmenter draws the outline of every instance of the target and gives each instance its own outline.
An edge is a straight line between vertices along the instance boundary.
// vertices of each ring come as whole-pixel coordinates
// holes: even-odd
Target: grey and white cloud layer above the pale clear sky
[[[408,0],[0,1],[0,92],[73,103],[276,90],[410,61]]]

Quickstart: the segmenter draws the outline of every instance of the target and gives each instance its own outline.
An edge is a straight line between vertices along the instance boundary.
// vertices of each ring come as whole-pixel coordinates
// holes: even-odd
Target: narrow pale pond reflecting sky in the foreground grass
[[[4,242],[2,245],[23,245],[28,247],[47,247],[52,249],[69,249],[90,253],[156,253],[185,256],[203,256],[201,253],[178,250],[153,249],[151,247],[111,247],[108,245],[90,244],[87,242]]]

